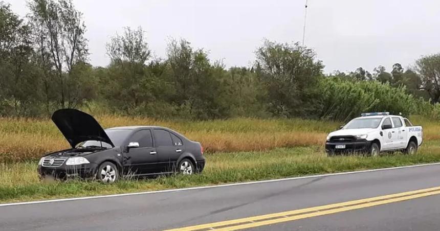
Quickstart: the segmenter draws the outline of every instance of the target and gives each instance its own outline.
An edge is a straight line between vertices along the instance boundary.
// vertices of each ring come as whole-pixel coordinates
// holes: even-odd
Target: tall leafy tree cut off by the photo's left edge
[[[0,2],[0,114],[29,116],[39,98],[33,76],[30,27]]]

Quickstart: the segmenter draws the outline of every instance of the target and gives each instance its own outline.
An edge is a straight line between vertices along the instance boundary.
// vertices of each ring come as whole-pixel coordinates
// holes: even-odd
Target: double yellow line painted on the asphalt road
[[[262,225],[270,225],[280,222],[294,221],[304,218],[316,217],[327,214],[340,213],[344,211],[357,210],[381,204],[388,204],[404,200],[440,194],[440,187],[421,189],[404,193],[390,194],[379,197],[371,197],[361,200],[353,200],[342,203],[328,204],[307,209],[292,210],[281,213],[273,213],[261,216],[241,218],[236,220],[214,222],[209,224],[194,225],[182,228],[169,229],[167,231],[181,230],[238,230],[252,228]]]

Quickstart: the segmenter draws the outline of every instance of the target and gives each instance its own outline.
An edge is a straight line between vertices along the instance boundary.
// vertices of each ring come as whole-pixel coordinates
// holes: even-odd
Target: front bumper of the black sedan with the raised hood
[[[39,165],[37,170],[41,178],[53,177],[57,179],[66,179],[70,177],[94,178],[97,168],[97,164],[90,163],[73,166],[63,164],[59,167],[45,167]]]

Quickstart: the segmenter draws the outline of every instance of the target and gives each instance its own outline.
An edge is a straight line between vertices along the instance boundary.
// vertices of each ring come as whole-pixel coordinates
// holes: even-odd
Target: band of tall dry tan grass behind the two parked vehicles
[[[424,127],[425,141],[440,140],[440,122],[411,118]],[[322,146],[329,131],[340,123],[301,119],[247,119],[213,121],[155,120],[141,117],[98,116],[103,127],[158,125],[199,141],[207,152],[260,151],[277,147]],[[69,148],[48,119],[0,118],[0,163],[37,159]]]

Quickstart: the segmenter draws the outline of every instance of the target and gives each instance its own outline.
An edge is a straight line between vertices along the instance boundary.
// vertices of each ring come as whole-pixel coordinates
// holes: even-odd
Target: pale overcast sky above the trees
[[[4,0],[5,1],[5,0]],[[26,0],[6,0],[24,16]],[[165,57],[169,37],[185,38],[226,66],[250,66],[263,38],[302,40],[304,0],[74,0],[84,14],[90,60],[105,66],[105,43],[141,26],[150,49]],[[309,0],[305,44],[326,72],[412,65],[440,52],[438,0]]]

